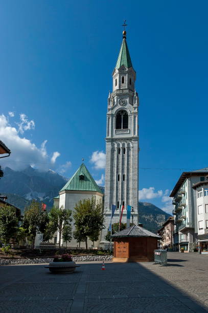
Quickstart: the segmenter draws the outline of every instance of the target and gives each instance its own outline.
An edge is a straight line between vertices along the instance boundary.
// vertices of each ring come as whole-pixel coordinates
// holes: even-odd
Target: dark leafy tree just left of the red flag
[[[32,200],[31,204],[25,208],[22,227],[31,238],[34,249],[36,233],[44,233],[49,222],[47,211],[43,211],[41,204]]]

